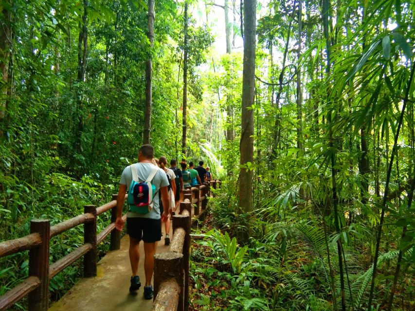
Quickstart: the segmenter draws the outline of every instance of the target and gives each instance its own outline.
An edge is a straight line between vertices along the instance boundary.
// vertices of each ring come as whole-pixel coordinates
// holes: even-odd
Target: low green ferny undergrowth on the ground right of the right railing
[[[236,213],[229,187],[224,189],[213,199],[205,226],[193,236],[192,310],[341,310],[336,242],[343,237],[327,232],[323,222],[330,217],[307,212],[307,205],[284,218],[269,217],[264,210],[270,207],[262,208],[251,215],[249,242],[239,245],[236,233],[245,218]],[[343,229],[347,310],[367,310],[374,231],[358,224]],[[392,310],[414,308],[412,255],[404,256]],[[381,245],[373,310],[386,308],[397,256],[397,245]]]

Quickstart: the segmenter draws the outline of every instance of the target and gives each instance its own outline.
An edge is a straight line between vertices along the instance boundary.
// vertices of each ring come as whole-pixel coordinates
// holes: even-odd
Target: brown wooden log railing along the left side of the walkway
[[[84,276],[96,276],[97,245],[110,234],[110,250],[120,249],[121,233],[115,229],[117,195],[100,207],[87,205],[84,214],[51,226],[49,220],[33,219],[30,234],[19,239],[0,243],[0,258],[29,250],[29,276],[13,289],[0,296],[0,310],[6,310],[28,295],[29,311],[46,311],[49,308],[49,282],[77,259],[84,257]],[[98,235],[97,216],[111,209],[111,224]],[[126,220],[126,215],[123,216]],[[49,263],[51,238],[77,225],[84,225],[84,244],[56,262]]]

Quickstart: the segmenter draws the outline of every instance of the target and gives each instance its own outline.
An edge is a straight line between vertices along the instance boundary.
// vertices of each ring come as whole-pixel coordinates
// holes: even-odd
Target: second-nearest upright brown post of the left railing
[[[84,224],[84,243],[92,244],[92,249],[84,256],[84,276],[90,277],[96,276],[96,261],[98,257],[96,244],[96,206],[86,205],[84,212],[94,215],[92,222]]]

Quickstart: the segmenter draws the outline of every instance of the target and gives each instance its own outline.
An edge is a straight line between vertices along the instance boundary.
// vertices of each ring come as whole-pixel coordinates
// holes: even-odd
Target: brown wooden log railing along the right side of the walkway
[[[173,238],[169,251],[154,256],[154,303],[152,311],[189,310],[189,257],[192,205],[199,215],[211,196],[210,187],[220,188],[220,180],[184,190],[180,214],[173,216]]]

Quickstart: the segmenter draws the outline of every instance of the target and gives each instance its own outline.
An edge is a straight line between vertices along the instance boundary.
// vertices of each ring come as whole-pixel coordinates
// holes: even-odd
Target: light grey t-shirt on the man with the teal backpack
[[[137,167],[137,174],[139,181],[145,181],[151,171],[155,166],[151,163],[138,163],[134,164]],[[134,212],[128,212],[127,217],[141,217],[141,218],[150,218],[150,219],[160,219],[160,203],[159,203],[159,191],[161,187],[167,187],[169,181],[167,180],[167,175],[162,169],[157,168],[157,173],[154,175],[152,184],[156,186],[156,193],[153,198],[153,208],[147,214],[138,214]],[[123,173],[121,174],[120,184],[126,185],[127,190],[130,188],[132,181],[131,168],[127,166]]]

